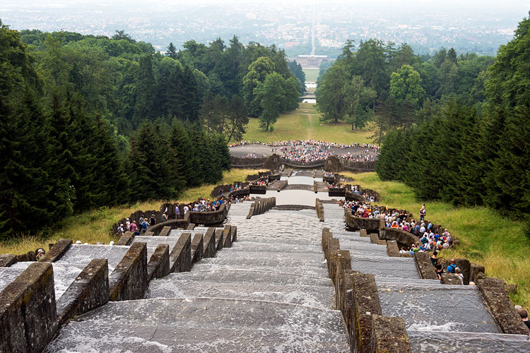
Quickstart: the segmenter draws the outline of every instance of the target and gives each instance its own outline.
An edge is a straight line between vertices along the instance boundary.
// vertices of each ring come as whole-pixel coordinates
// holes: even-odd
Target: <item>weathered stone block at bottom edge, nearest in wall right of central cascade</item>
[[[370,352],[412,352],[403,318],[389,318],[379,315],[372,317],[372,348]]]

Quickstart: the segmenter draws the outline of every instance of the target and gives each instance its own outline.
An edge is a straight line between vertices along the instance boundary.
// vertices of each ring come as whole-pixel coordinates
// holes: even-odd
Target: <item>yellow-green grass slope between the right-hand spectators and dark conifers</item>
[[[396,181],[381,181],[376,173],[345,173],[368,189],[381,193],[381,205],[403,208],[419,217],[423,201],[411,188]],[[518,286],[512,301],[530,309],[530,241],[524,224],[501,217],[484,207],[461,208],[449,203],[425,202],[427,220],[446,227],[460,241],[457,249],[442,251],[443,258],[467,258],[485,266],[486,275]]]

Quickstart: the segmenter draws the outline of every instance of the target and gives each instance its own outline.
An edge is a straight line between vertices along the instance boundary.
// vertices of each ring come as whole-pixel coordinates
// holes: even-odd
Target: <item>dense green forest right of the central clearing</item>
[[[317,102],[327,119],[342,114],[362,124],[363,114],[376,112],[382,179],[403,181],[423,200],[487,205],[528,221],[529,85],[525,18],[496,58],[453,49],[422,58],[405,44],[393,52],[375,40],[355,53],[347,46],[321,78]],[[355,95],[340,101],[344,90]]]

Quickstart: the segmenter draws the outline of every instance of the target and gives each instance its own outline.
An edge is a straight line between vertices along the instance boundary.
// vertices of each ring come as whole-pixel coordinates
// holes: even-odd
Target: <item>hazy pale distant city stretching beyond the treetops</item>
[[[136,40],[151,42],[164,51],[173,42],[177,48],[187,40],[208,43],[217,37],[228,41],[237,35],[244,44],[260,42],[284,48],[288,56],[300,54],[336,57],[346,40],[377,38],[385,42],[407,42],[420,53],[432,54],[440,47],[457,52],[494,55],[509,41],[517,23],[528,16],[528,8],[464,8],[443,10],[404,8],[360,8],[353,4],[141,4],[113,1],[41,1],[32,4],[3,1],[0,18],[16,30],[67,30],[93,35],[114,35],[124,30]],[[365,5],[367,6],[367,5]],[[313,12],[314,11],[314,12]],[[477,12],[481,11],[481,12]],[[314,44],[312,44],[312,32]]]

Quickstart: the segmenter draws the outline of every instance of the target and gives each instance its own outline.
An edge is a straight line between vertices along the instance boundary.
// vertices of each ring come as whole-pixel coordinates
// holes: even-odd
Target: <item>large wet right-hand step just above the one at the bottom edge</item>
[[[396,280],[377,290],[382,314],[401,316],[408,330],[500,333],[476,286]]]

